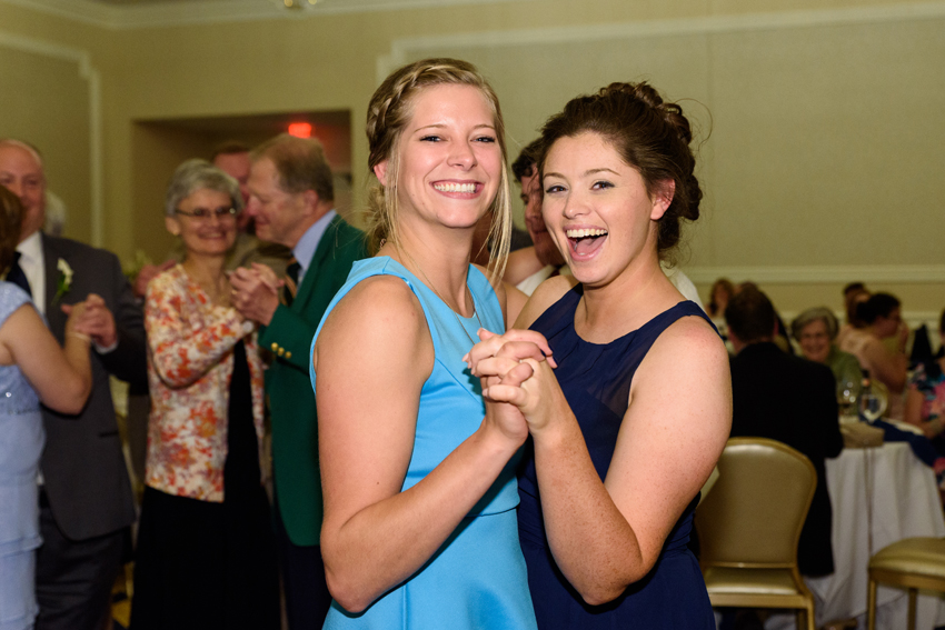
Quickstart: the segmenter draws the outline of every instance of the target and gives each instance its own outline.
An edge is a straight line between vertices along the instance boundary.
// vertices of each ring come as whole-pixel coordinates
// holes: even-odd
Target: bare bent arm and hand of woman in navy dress
[[[725,349],[695,318],[657,339],[634,377],[603,483],[549,363],[525,362],[535,376],[518,392],[494,386],[488,396],[515,402],[528,420],[555,561],[585,601],[611,601],[653,568],[725,446],[732,421]],[[484,361],[476,373],[508,367],[491,369],[499,363]],[[685,391],[675,382],[685,382]]]

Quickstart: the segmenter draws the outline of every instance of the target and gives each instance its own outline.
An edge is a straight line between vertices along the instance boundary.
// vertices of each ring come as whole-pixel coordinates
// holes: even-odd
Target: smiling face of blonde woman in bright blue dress
[[[475,227],[496,197],[504,168],[488,101],[478,88],[439,84],[421,90],[411,106],[396,149],[398,232]],[[388,164],[375,168],[385,186]]]

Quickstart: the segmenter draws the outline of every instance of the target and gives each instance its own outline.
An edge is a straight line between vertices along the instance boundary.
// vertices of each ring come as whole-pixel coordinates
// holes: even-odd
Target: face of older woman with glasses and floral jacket
[[[236,217],[219,211],[230,207],[232,201],[226,192],[201,188],[178,204],[181,213],[167,218],[168,231],[180,237],[188,257],[225,256],[236,242]],[[206,216],[182,214],[195,211]]]

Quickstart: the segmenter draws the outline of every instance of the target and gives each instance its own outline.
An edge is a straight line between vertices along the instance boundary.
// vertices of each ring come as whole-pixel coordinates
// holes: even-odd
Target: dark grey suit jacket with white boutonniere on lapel
[[[131,483],[121,452],[109,374],[147,387],[145,326],[141,309],[121,272],[118,258],[80,242],[42,236],[46,267],[46,319],[63,342],[67,317],[61,304],[102,297],[115,316],[118,347],[92,353],[92,392],[78,416],[43,408],[46,449],[40,467],[57,524],[72,540],[117,531],[135,521]],[[72,268],[72,286],[54,300],[59,259]]]

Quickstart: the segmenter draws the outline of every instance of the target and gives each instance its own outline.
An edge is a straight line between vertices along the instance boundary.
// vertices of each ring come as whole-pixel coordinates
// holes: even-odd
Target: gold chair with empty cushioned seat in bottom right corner
[[[945,539],[906,538],[884,547],[869,559],[866,628],[876,629],[876,587],[883,583],[908,589],[908,630],[915,630],[918,589],[945,592]]]

